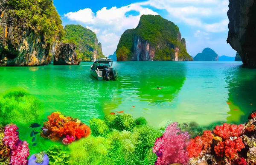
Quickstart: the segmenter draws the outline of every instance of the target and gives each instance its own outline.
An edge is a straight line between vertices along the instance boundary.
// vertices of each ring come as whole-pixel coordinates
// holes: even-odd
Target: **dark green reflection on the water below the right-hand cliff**
[[[245,122],[250,113],[256,110],[256,70],[237,66],[228,69],[227,74],[230,107],[227,120]]]

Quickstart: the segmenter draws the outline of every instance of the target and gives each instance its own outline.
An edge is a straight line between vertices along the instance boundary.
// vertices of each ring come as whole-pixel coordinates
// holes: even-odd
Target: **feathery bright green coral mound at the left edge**
[[[14,89],[0,96],[0,124],[31,123],[44,114],[41,102],[23,89]]]

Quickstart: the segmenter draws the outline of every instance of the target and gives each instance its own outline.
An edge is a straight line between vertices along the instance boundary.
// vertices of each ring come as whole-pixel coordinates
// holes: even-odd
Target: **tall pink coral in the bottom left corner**
[[[18,127],[15,124],[5,126],[3,141],[11,149],[10,165],[27,165],[29,147],[26,141],[19,140]]]

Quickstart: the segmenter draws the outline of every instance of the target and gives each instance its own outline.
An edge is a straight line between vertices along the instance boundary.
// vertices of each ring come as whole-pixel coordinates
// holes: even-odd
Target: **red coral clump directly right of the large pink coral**
[[[203,135],[197,136],[189,141],[187,147],[189,158],[198,157],[201,152],[206,152],[207,148],[212,144],[212,132],[207,130],[204,131]]]

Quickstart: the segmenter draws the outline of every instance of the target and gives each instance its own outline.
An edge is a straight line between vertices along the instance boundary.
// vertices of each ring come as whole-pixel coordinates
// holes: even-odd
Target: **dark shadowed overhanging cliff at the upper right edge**
[[[256,2],[229,1],[227,43],[239,53],[244,65],[256,67]]]

